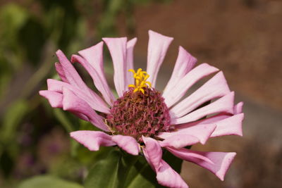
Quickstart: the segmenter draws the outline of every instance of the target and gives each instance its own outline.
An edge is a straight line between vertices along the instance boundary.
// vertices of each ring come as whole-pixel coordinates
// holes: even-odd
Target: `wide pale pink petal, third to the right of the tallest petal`
[[[180,118],[183,115],[194,110],[201,104],[212,99],[225,96],[230,92],[226,79],[222,72],[217,73],[212,79],[202,85],[196,92],[190,94],[179,104],[171,108],[171,113],[175,114],[176,118]]]

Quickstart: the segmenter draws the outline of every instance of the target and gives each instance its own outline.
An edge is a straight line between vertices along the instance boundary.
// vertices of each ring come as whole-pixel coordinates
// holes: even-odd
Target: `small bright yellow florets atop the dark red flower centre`
[[[138,68],[137,72],[135,70],[130,69],[129,72],[133,73],[133,77],[135,79],[135,84],[129,84],[128,87],[135,88],[133,92],[142,92],[142,94],[145,94],[145,90],[143,87],[152,87],[151,82],[146,81],[149,77],[146,71],[142,71],[142,68]]]

